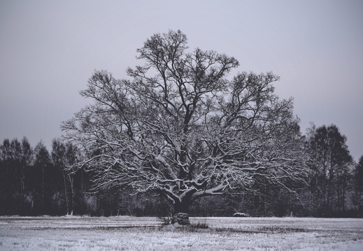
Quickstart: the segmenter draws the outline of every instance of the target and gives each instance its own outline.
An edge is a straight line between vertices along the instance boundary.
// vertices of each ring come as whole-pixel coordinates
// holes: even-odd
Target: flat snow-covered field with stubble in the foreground
[[[363,250],[363,219],[0,217],[0,250]]]

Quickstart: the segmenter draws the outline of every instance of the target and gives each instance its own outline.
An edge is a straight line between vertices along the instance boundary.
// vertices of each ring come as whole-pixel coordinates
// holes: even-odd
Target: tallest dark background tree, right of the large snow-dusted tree
[[[353,158],[346,145],[346,136],[335,125],[310,128],[311,188],[314,211],[332,217],[346,210],[346,197]]]

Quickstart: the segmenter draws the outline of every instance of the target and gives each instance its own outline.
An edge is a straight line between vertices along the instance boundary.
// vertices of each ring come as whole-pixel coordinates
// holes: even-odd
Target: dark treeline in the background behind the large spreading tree
[[[355,163],[346,137],[336,126],[312,126],[302,137],[310,172],[306,183],[287,184],[295,192],[270,183],[256,183],[259,193],[204,197],[190,215],[363,217],[363,156]],[[82,152],[53,139],[50,152],[43,142],[33,148],[26,137],[0,145],[0,215],[168,215],[172,207],[162,197],[134,195],[113,188],[92,192],[94,175],[72,169]]]

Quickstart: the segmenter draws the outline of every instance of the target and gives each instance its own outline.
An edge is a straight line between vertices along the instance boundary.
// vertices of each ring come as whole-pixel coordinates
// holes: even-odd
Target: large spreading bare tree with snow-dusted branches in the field
[[[62,124],[87,152],[78,164],[94,189],[152,190],[187,213],[193,201],[256,182],[283,185],[305,176],[292,100],[274,94],[273,73],[238,73],[234,57],[190,52],[180,31],[157,33],[137,50],[143,66],[128,79],[97,70],[80,94],[92,104]],[[74,168],[74,167],[73,167]]]

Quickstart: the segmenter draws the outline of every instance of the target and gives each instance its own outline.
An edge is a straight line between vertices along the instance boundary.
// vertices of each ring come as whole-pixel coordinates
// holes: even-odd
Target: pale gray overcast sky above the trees
[[[280,75],[301,130],[334,123],[363,155],[363,1],[0,1],[0,142],[48,150],[90,100],[94,69],[126,77],[153,33],[180,29],[190,48],[234,56],[239,71]],[[231,76],[232,77],[232,76]]]

